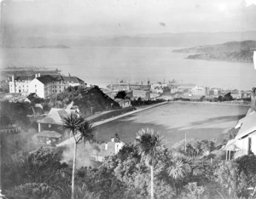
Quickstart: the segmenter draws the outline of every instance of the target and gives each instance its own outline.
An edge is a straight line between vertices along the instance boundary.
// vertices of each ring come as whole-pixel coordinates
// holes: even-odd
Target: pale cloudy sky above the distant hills
[[[3,5],[3,21],[40,36],[252,31],[256,0],[30,0]],[[38,2],[38,3],[31,3]],[[17,6],[17,4],[19,4]],[[6,7],[4,7],[6,8]],[[247,12],[248,13],[248,12]],[[44,31],[42,31],[44,30]],[[65,30],[65,31],[64,31]]]

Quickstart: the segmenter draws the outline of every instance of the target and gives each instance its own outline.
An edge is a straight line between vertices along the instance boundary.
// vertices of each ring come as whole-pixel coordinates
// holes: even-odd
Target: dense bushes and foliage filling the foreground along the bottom
[[[188,140],[171,150],[161,146],[154,166],[155,198],[248,198],[256,185],[256,156],[225,162],[201,162],[214,143]],[[61,163],[62,149],[16,153],[2,164],[3,190],[8,198],[70,198],[72,168]],[[75,198],[148,198],[150,169],[136,145],[125,145],[100,167],[78,168]]]

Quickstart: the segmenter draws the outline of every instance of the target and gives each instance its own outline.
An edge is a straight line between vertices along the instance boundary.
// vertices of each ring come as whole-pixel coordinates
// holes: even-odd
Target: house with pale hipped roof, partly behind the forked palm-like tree
[[[78,114],[79,110],[73,109],[57,109],[51,108],[49,114],[43,119],[38,120],[38,133],[42,131],[55,131],[63,135],[63,137],[67,137],[69,132],[63,131],[62,124],[63,119],[68,115],[75,113]]]

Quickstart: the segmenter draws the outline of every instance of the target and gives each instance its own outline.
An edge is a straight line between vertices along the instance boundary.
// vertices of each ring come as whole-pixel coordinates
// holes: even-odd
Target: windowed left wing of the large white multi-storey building
[[[12,81],[9,82],[9,93],[11,94],[26,94],[29,92],[29,83],[35,77],[40,77],[40,74],[36,76],[12,76]]]

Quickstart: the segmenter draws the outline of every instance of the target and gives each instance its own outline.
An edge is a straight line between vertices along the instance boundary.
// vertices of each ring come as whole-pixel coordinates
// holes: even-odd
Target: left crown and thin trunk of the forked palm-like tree
[[[76,156],[77,156],[77,144],[83,138],[83,134],[77,138],[78,130],[81,128],[81,125],[84,123],[84,117],[79,117],[77,114],[70,114],[63,119],[63,129],[70,130],[73,134],[74,139],[74,156],[73,156],[73,170],[72,170],[72,190],[71,198],[74,199],[74,176],[76,168]]]

